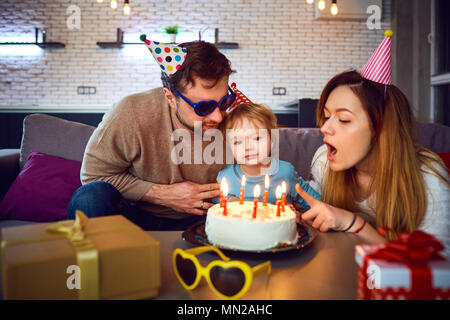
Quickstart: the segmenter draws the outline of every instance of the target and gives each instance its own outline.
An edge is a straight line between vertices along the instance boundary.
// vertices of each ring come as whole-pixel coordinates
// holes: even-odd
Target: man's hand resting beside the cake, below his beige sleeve
[[[170,207],[178,212],[204,215],[214,205],[205,199],[219,195],[219,183],[198,184],[185,181],[171,185],[154,184],[141,200]]]

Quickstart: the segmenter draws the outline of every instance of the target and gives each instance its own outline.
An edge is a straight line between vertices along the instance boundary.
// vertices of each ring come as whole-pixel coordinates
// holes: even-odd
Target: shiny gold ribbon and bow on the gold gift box
[[[77,253],[77,265],[80,268],[78,298],[97,300],[100,296],[98,251],[91,240],[85,237],[84,228],[89,218],[80,210],[76,210],[75,214],[73,224],[57,222],[49,225],[47,231],[64,234]]]

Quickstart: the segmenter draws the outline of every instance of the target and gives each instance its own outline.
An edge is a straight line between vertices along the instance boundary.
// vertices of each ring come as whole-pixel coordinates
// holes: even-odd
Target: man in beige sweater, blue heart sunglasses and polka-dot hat
[[[83,186],[69,204],[69,219],[78,209],[89,217],[123,214],[145,230],[183,230],[219,196],[214,182],[226,164],[174,163],[172,133],[187,130],[193,146],[194,123],[203,132],[219,126],[236,97],[228,86],[233,70],[210,43],[178,47],[141,39],[165,70],[163,88],[127,96],[104,115],[87,144]],[[166,73],[173,69],[168,63],[177,63],[176,72]],[[194,148],[191,153],[193,159]]]

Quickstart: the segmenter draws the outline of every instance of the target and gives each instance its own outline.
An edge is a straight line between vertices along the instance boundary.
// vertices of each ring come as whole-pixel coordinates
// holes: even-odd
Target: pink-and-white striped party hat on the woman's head
[[[361,76],[367,80],[390,85],[392,84],[391,37],[393,32],[386,30],[384,40],[372,54],[369,61],[361,69]]]

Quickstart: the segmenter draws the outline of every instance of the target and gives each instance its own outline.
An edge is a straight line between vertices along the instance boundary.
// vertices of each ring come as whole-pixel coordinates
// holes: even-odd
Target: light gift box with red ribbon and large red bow
[[[380,246],[356,246],[359,300],[450,299],[450,262],[423,231],[401,234]]]

